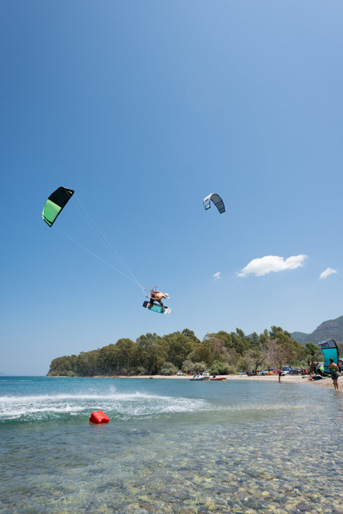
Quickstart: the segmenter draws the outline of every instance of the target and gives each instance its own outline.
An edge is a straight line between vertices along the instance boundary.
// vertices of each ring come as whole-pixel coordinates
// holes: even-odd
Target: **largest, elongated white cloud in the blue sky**
[[[250,273],[254,273],[256,277],[261,277],[270,271],[283,271],[284,269],[296,269],[303,266],[304,260],[308,256],[301,253],[300,255],[291,255],[288,259],[279,257],[278,255],[265,255],[258,259],[252,259],[241,269],[240,273],[237,273],[238,277],[246,277]]]

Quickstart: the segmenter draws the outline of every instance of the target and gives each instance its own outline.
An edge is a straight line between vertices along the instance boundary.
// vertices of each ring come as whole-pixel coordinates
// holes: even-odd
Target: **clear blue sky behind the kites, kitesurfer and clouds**
[[[1,372],[147,332],[312,332],[343,314],[341,2],[1,11]],[[77,198],[50,229],[59,186]],[[170,316],[57,230],[118,267],[79,201]],[[246,273],[269,255],[278,271]]]

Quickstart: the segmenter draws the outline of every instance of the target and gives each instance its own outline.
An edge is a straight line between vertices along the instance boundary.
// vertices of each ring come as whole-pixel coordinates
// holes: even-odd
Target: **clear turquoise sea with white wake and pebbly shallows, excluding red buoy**
[[[0,513],[342,514],[342,413],[315,384],[0,377]]]

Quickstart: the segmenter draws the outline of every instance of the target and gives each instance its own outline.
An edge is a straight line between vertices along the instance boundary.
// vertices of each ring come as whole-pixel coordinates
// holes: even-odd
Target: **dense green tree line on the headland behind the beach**
[[[318,346],[295,341],[281,327],[246,336],[220,331],[206,334],[202,341],[185,328],[165,336],[146,334],[136,341],[128,338],[79,355],[53,359],[47,376],[172,375],[182,370],[195,373],[234,375],[238,371],[281,368],[321,360]]]

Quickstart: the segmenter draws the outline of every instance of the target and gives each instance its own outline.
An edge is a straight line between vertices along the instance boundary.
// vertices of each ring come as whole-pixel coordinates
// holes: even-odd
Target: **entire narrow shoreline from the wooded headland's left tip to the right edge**
[[[257,375],[253,377],[248,377],[247,375],[219,375],[221,377],[225,377],[226,380],[254,380],[254,381],[279,381],[278,375]],[[47,378],[85,378],[85,377],[69,377],[67,375],[65,376],[56,376],[56,377],[47,377]],[[190,376],[177,376],[177,375],[133,375],[133,376],[124,376],[124,375],[95,375],[94,377],[86,377],[86,378],[111,378],[111,379],[117,379],[117,378],[140,378],[140,379],[167,379],[167,380],[189,380]],[[314,380],[310,382],[308,380],[308,375],[285,375],[284,377],[281,377],[281,383],[298,383],[298,384],[307,384],[307,385],[319,385],[321,387],[325,387],[327,389],[334,390],[333,387],[333,381],[330,377],[323,378],[322,380]],[[201,381],[201,380],[200,380]],[[340,389],[343,389],[343,376],[338,377],[338,391]]]

